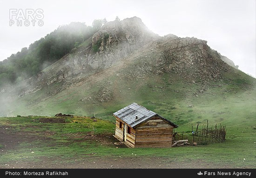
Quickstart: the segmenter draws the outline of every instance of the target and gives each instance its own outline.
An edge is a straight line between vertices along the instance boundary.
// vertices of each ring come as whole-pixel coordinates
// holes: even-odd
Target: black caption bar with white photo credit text
[[[85,175],[133,175],[143,173],[144,176],[179,176],[192,178],[228,177],[255,178],[256,169],[0,169],[0,178],[84,178]]]

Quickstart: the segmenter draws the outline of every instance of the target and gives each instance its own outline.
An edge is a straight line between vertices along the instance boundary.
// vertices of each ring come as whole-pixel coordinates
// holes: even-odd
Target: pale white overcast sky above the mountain
[[[15,21],[10,26],[9,9],[42,9],[44,25],[17,26]],[[91,25],[94,19],[116,16],[137,16],[161,36],[207,40],[240,70],[256,76],[256,0],[0,0],[0,61],[60,25]]]

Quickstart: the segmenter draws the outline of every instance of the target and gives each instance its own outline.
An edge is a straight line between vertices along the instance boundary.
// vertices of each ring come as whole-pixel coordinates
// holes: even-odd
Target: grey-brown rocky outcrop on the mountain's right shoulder
[[[202,80],[221,78],[221,72],[229,70],[218,53],[207,41],[192,38],[178,38],[173,35],[163,37],[159,48],[163,51],[166,71],[195,75]]]

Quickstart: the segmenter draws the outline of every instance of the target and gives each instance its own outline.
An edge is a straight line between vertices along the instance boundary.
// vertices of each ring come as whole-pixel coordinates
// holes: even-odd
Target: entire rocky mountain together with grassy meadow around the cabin
[[[112,114],[133,102],[179,125],[178,139],[191,145],[116,145]],[[1,86],[0,168],[255,168],[255,108],[256,79],[207,41],[115,20],[36,75]],[[75,116],[53,117],[60,112]],[[226,140],[192,146],[191,126],[207,120],[226,126]]]

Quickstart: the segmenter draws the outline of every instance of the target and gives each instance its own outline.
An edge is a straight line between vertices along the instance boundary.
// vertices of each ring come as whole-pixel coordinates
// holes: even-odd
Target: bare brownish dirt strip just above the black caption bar
[[[75,161],[74,159],[41,157],[40,162],[22,161],[0,164],[0,168],[231,168],[217,166],[204,161],[176,162],[171,158],[138,157],[138,158],[109,158],[88,157]],[[72,162],[70,162],[72,161]]]

